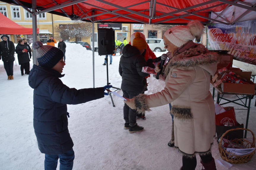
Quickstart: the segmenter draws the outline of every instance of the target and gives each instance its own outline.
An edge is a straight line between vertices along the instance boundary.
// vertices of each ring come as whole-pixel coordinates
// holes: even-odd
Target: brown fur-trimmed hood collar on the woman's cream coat
[[[218,63],[219,60],[217,53],[209,52],[202,44],[195,44],[194,47],[170,58],[166,64],[164,75],[167,76],[171,68],[201,66]]]

